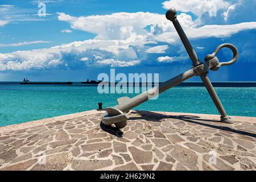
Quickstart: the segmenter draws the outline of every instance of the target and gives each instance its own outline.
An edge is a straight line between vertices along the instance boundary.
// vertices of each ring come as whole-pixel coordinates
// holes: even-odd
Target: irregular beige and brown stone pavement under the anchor
[[[0,127],[0,170],[255,170],[256,118],[131,111],[121,130],[86,111]],[[105,130],[105,131],[104,131]]]

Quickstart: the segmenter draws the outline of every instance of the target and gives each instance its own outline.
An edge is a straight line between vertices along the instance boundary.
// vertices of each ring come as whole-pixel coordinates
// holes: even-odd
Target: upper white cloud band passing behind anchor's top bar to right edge
[[[127,43],[134,43],[137,39],[137,44],[131,46],[143,45],[150,40],[153,41],[151,43],[154,41],[175,43],[179,40],[172,23],[160,14],[138,12],[80,17],[64,13],[58,13],[58,15],[59,20],[68,22],[74,29],[97,34],[94,39],[127,40]],[[255,22],[197,27],[192,17],[185,13],[178,15],[177,19],[190,38],[227,37],[242,30],[255,28]],[[151,26],[150,33],[144,29],[147,26]]]

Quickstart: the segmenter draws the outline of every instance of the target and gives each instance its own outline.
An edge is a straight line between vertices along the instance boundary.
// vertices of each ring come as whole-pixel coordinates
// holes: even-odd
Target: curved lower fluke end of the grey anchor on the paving
[[[115,125],[118,129],[122,129],[127,125],[129,115],[123,113],[115,107],[106,108],[106,113],[102,115],[102,123],[106,126]]]

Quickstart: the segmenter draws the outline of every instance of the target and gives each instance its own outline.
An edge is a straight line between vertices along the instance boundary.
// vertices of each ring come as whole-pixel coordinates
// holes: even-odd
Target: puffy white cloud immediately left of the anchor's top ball
[[[96,39],[112,40],[127,39],[147,33],[144,27],[167,22],[164,15],[154,13],[113,13],[110,15],[93,15],[75,17],[65,13],[57,13],[58,19],[68,22],[71,28],[96,34]]]

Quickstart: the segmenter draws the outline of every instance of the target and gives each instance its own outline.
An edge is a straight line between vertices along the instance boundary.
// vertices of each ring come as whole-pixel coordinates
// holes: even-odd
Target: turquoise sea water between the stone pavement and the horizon
[[[256,117],[256,88],[216,88],[229,115]],[[116,105],[119,97],[98,94],[97,86],[0,84],[0,126]],[[138,110],[218,114],[204,87],[175,87]]]

